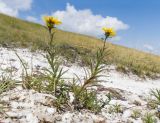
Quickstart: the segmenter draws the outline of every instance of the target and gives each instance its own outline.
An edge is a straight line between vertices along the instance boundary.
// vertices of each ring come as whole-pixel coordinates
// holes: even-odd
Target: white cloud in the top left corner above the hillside
[[[0,13],[18,16],[19,11],[31,9],[32,0],[0,0]]]

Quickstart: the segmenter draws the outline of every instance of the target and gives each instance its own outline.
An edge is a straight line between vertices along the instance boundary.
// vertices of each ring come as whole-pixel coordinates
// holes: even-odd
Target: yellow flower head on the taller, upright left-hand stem
[[[62,22],[59,21],[57,18],[54,18],[52,16],[44,16],[43,17],[44,22],[46,23],[46,26],[49,29],[52,29],[55,27],[55,25],[60,25]]]

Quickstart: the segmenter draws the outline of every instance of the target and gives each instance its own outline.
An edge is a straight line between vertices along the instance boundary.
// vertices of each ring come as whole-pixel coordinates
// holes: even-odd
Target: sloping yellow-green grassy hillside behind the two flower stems
[[[43,48],[44,42],[48,40],[47,37],[47,30],[42,25],[0,14],[0,44],[2,46]],[[61,30],[56,30],[54,39],[59,44],[62,55],[73,62],[77,56],[86,62],[87,57],[92,57],[93,52],[102,45],[99,39]],[[160,74],[159,56],[111,43],[107,43],[107,46],[110,55],[106,55],[106,61],[116,64],[117,70],[124,73],[131,71],[140,77],[157,78]]]

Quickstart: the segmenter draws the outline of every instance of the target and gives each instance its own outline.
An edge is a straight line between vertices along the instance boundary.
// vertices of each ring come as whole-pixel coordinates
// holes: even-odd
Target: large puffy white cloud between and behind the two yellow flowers
[[[77,10],[69,3],[64,11],[56,11],[53,16],[59,18],[63,24],[61,29],[86,35],[100,36],[101,28],[113,27],[115,30],[126,30],[129,26],[116,17],[102,17],[94,15],[90,9]]]

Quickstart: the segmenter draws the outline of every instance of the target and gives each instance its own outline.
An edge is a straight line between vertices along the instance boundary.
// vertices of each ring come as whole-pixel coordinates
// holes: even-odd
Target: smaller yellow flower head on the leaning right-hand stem
[[[103,27],[102,30],[105,32],[105,35],[107,37],[114,37],[116,36],[116,32],[113,28],[106,28],[106,27]]]

